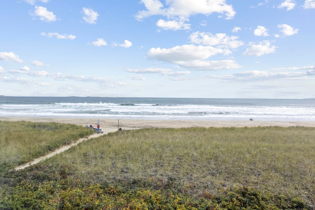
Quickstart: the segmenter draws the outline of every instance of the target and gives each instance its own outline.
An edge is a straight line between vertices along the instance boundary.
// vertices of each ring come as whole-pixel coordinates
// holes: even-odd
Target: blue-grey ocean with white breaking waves
[[[315,99],[0,96],[0,116],[315,121]]]

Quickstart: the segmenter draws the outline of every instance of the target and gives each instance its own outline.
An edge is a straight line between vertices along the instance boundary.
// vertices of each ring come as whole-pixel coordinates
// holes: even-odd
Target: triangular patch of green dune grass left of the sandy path
[[[72,124],[0,121],[0,172],[92,133]]]

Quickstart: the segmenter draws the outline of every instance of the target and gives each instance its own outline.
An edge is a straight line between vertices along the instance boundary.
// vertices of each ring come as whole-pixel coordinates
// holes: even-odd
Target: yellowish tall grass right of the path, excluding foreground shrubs
[[[315,128],[182,128],[115,132],[57,155],[92,183],[172,181],[195,196],[245,185],[315,203]]]

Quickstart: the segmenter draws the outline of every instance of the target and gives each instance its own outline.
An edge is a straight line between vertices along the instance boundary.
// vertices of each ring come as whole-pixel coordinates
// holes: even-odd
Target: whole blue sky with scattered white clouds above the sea
[[[1,0],[0,95],[315,98],[315,0]]]

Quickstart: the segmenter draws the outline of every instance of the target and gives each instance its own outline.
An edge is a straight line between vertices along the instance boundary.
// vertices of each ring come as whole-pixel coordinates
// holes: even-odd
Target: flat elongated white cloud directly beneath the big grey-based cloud
[[[178,64],[183,68],[194,70],[221,70],[221,69],[235,69],[241,68],[234,60],[192,60],[188,62],[181,62]]]

